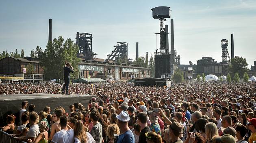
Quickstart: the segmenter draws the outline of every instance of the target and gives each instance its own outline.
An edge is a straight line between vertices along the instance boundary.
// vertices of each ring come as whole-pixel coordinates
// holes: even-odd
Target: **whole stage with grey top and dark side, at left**
[[[69,113],[69,105],[75,102],[82,103],[85,107],[89,104],[89,100],[95,95],[61,95],[61,94],[20,94],[20,95],[0,95],[0,126],[6,120],[9,114],[17,116],[21,108],[22,101],[28,101],[28,105],[34,104],[35,111],[42,111],[44,107],[54,108],[62,106]],[[28,110],[28,108],[27,108]]]

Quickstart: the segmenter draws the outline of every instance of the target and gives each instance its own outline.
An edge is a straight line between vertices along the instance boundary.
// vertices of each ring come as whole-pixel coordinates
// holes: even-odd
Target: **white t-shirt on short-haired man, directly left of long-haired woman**
[[[74,143],[74,130],[60,130],[52,138],[53,143]]]

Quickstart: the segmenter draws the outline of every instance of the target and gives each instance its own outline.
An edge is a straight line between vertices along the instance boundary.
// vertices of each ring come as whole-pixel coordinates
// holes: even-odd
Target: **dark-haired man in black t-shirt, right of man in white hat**
[[[151,132],[147,125],[148,115],[146,113],[139,113],[138,120],[139,126],[141,126],[141,133],[139,134],[139,143],[147,143],[145,134]]]

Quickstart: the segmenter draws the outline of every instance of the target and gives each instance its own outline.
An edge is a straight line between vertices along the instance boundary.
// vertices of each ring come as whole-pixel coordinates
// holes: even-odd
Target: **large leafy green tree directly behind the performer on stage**
[[[76,57],[78,53],[78,46],[70,38],[64,43],[62,36],[53,41],[48,41],[46,49],[43,51],[43,55],[39,56],[40,64],[43,66],[46,80],[50,79],[63,79],[63,66],[65,61],[71,63],[74,68],[74,74],[71,74],[71,78],[78,77],[78,63],[80,58]]]

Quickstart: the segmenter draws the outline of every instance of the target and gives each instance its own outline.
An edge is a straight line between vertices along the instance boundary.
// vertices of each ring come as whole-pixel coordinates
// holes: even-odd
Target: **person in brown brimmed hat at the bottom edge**
[[[183,132],[182,124],[180,124],[179,122],[172,122],[168,128],[171,143],[183,143],[183,141],[180,139],[180,135]]]

